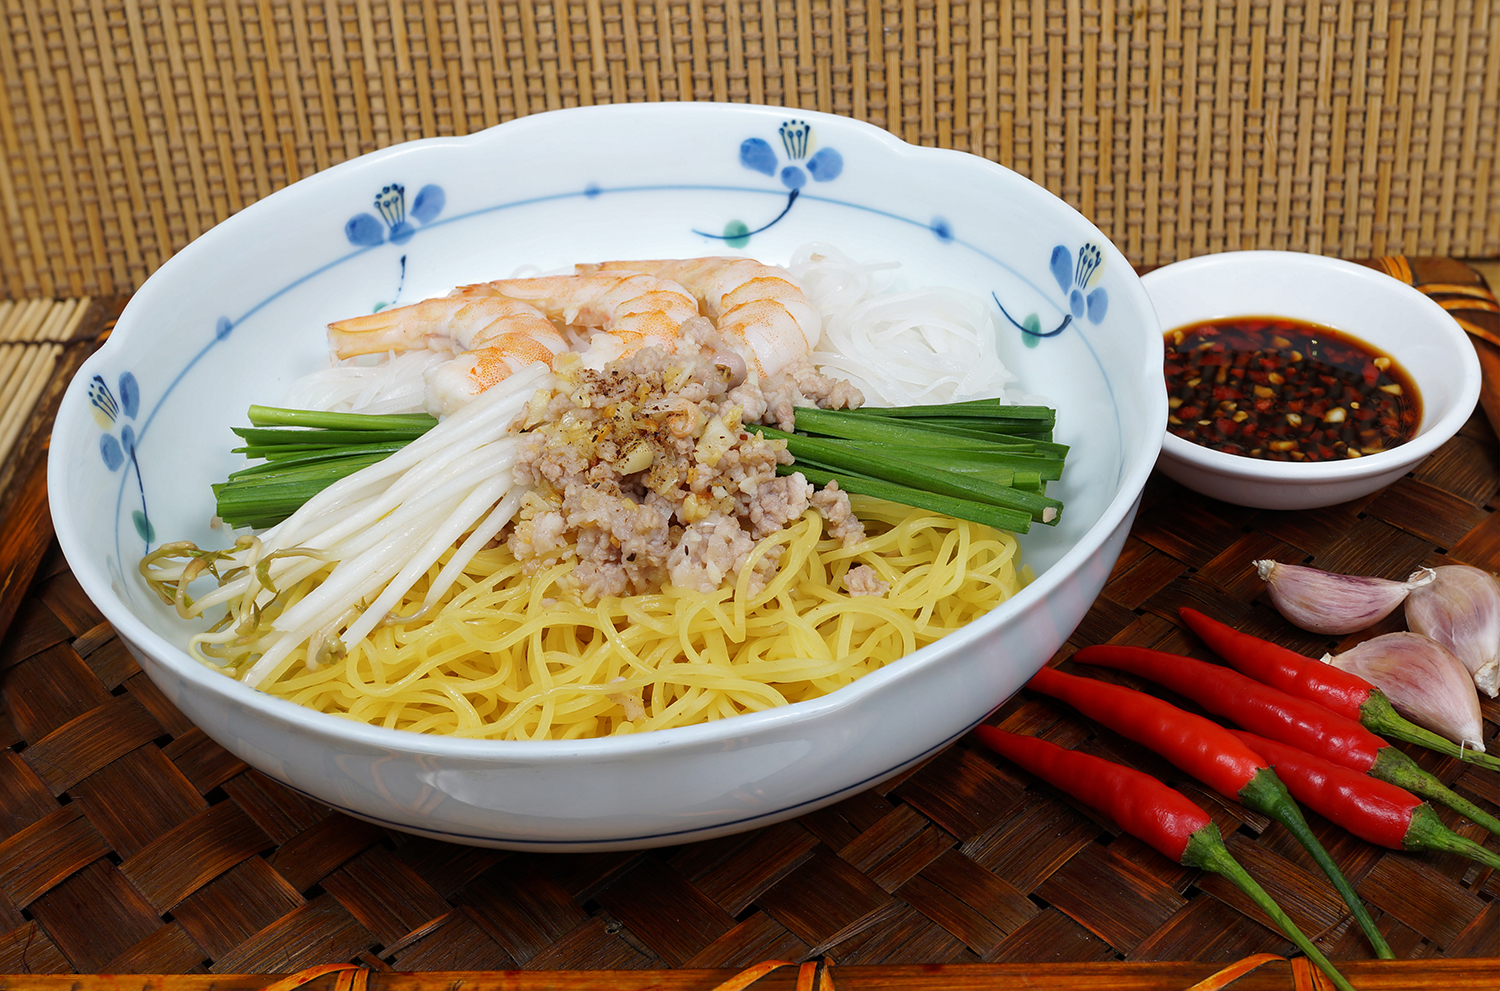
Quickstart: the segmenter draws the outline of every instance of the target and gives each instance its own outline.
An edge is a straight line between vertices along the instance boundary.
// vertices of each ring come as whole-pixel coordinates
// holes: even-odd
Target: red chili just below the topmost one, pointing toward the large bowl
[[[1288,696],[1221,664],[1146,648],[1100,645],[1072,655],[1080,664],[1118,667],[1149,678],[1244,729],[1360,774],[1443,802],[1500,835],[1500,820],[1452,792],[1414,760],[1353,720]]]

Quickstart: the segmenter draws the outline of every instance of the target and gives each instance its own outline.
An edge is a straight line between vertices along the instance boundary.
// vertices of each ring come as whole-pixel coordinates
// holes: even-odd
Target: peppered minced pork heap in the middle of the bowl
[[[578,592],[594,601],[664,583],[711,592],[735,582],[756,543],[808,505],[852,544],[864,528],[849,496],[837,486],[814,495],[801,474],[777,475],[792,456],[753,424],[790,430],[796,406],[862,402],[858,388],[808,361],[746,375],[706,318],[682,324],[672,351],[642,348],[603,370],[564,357],[556,388],[526,418],[514,475],[532,493],[507,546],[531,573],[576,553]],[[776,576],[780,550],[752,567],[752,594]]]

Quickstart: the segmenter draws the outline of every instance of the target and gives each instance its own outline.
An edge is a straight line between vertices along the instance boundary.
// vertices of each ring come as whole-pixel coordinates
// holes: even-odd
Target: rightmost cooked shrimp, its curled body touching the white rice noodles
[[[806,358],[822,336],[822,319],[792,274],[753,258],[606,261],[578,271],[640,271],[681,283],[720,333],[746,343],[762,373]]]

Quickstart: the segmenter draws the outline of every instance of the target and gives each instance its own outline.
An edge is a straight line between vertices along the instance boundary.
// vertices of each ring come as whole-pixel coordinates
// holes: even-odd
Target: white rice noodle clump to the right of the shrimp
[[[819,370],[849,379],[874,406],[1016,402],[994,306],[962,289],[900,291],[894,268],[828,244],[798,249],[788,270],[824,318]]]

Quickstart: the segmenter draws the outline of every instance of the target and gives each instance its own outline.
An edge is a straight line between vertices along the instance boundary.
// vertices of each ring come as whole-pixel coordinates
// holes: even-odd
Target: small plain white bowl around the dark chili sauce
[[[1298,252],[1226,252],[1164,265],[1142,283],[1167,331],[1226,316],[1323,324],[1389,354],[1420,393],[1422,421],[1412,441],[1338,462],[1270,462],[1167,433],[1156,466],[1215,499],[1308,510],[1370,495],[1454,436],[1479,399],[1479,358],[1464,328],[1431,298],[1374,268]]]

